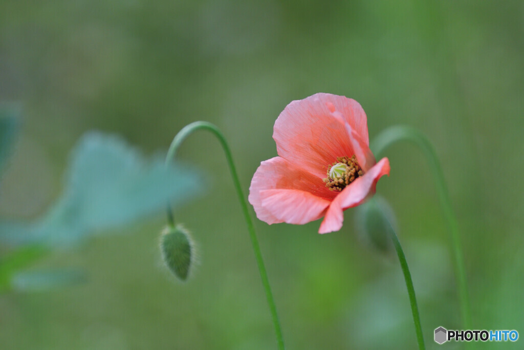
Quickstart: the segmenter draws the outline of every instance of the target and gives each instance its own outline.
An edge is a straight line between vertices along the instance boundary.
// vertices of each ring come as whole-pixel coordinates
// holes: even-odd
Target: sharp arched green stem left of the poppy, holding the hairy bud
[[[240,181],[238,180],[238,175],[236,173],[235,164],[233,163],[233,157],[231,155],[231,151],[229,149],[229,146],[227,145],[224,135],[222,134],[222,132],[220,132],[220,130],[215,125],[208,123],[208,122],[194,122],[189,125],[186,125],[182,130],[180,130],[180,132],[176,136],[174,136],[174,139],[171,142],[171,145],[169,146],[169,150],[167,152],[166,164],[169,164],[169,162],[174,158],[180,144],[182,144],[182,142],[190,134],[200,129],[208,130],[211,133],[213,133],[217,137],[217,139],[219,139],[220,143],[222,144],[222,148],[224,149],[224,153],[227,159],[227,165],[230,167],[231,176],[233,177],[233,183],[235,185],[236,193],[238,195],[238,200],[240,201],[240,204],[242,206],[242,212],[246,220],[247,230],[249,231],[249,237],[251,238],[251,243],[253,245],[253,250],[255,252],[255,258],[257,261],[258,271],[260,272],[260,278],[262,279],[262,284],[264,285],[264,289],[266,291],[267,303],[269,304],[269,310],[271,311],[273,325],[275,326],[275,333],[277,336],[278,348],[284,349],[284,341],[282,337],[282,331],[280,329],[280,321],[278,320],[277,307],[275,306],[275,300],[273,299],[273,294],[271,293],[271,287],[269,285],[269,279],[267,278],[266,268],[264,266],[264,260],[262,259],[262,253],[260,252],[260,247],[258,245],[258,239],[255,234],[255,226],[253,225],[253,221],[251,220],[251,217],[249,216],[247,202],[244,197],[244,193],[242,192],[242,187],[240,185]],[[173,220],[173,216],[171,214],[171,209],[169,208],[169,206],[168,206],[168,221],[170,225],[173,225],[174,220]]]

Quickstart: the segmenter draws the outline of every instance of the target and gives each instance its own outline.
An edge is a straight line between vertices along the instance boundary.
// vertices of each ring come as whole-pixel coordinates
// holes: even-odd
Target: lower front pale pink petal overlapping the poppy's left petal
[[[295,225],[320,219],[331,203],[299,189],[266,189],[260,192],[260,199],[277,220]]]

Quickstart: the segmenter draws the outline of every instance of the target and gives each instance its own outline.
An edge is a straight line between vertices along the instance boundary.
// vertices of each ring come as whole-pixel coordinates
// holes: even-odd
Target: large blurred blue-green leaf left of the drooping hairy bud
[[[85,134],[71,153],[62,196],[31,224],[0,223],[0,242],[73,245],[95,232],[130,225],[186,203],[203,182],[194,169],[145,158],[117,136]]]

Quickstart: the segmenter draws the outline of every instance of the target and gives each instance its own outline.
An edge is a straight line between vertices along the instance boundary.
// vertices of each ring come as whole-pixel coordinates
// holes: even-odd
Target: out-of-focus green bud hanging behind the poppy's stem
[[[382,253],[393,251],[390,225],[396,230],[397,220],[395,212],[384,198],[375,195],[357,207],[355,216],[358,236],[364,243]]]

